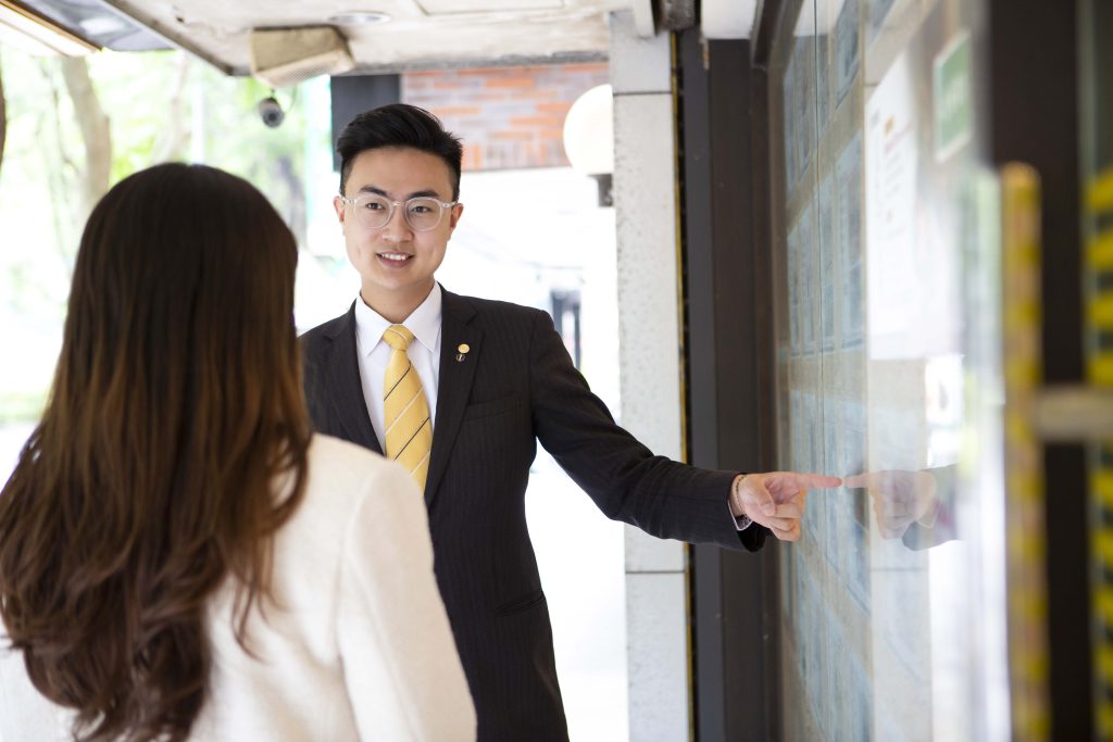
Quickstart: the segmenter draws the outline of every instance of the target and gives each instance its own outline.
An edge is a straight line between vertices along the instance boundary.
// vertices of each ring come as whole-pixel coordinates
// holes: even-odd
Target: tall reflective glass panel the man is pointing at
[[[781,551],[789,740],[1007,735],[983,8],[807,0],[775,44],[780,466],[849,477]]]

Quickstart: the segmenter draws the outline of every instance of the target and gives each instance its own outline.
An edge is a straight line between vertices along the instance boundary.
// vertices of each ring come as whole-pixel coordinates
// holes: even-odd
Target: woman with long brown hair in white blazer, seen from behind
[[[296,263],[214,168],[93,210],[0,493],[0,739],[474,739],[416,485],[311,433]]]

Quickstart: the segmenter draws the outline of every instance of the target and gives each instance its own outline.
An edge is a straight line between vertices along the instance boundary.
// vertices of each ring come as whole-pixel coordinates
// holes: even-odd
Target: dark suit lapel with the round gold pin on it
[[[475,367],[480,359],[483,330],[470,325],[475,309],[461,297],[442,287],[441,373],[436,392],[436,424],[433,427],[433,452],[425,482],[425,504],[432,506],[444,469],[456,442],[463,419]],[[460,346],[466,345],[467,353]],[[459,360],[456,356],[463,356]]]

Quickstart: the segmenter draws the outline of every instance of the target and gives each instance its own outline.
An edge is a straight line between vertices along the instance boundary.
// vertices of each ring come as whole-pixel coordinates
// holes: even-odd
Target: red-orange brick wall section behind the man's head
[[[561,167],[568,109],[608,81],[605,62],[406,72],[402,100],[463,139],[464,170]]]

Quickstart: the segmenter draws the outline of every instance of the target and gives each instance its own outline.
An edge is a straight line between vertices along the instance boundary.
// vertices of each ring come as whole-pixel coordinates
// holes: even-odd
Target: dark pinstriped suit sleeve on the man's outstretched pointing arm
[[[619,427],[588,388],[544,311],[530,339],[533,427],[569,476],[603,513],[660,538],[756,551],[767,528],[742,532],[730,515],[737,472],[715,472],[654,456]]]

